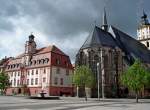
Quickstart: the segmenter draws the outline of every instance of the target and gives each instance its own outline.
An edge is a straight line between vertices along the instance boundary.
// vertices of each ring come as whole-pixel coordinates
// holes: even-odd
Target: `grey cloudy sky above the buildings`
[[[38,48],[56,45],[72,62],[106,7],[108,23],[136,38],[142,10],[150,0],[0,0],[0,58],[24,52],[33,32]]]

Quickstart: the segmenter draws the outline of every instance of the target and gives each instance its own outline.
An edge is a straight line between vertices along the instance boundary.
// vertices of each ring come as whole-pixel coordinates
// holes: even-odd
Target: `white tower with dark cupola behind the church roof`
[[[150,50],[150,23],[147,15],[143,12],[140,24],[137,29],[138,40]]]

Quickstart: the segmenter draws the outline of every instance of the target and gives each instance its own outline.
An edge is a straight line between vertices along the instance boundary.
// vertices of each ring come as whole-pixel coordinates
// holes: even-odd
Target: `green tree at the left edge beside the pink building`
[[[9,76],[4,71],[0,72],[0,91],[1,91],[1,94],[6,93],[6,89],[9,85],[10,85]]]

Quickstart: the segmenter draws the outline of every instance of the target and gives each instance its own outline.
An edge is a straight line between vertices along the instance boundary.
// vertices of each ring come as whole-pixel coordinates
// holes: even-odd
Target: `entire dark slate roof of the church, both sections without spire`
[[[100,46],[119,47],[125,53],[124,59],[128,64],[135,59],[150,63],[150,51],[146,46],[113,26],[109,27],[108,32],[95,26],[80,49]]]

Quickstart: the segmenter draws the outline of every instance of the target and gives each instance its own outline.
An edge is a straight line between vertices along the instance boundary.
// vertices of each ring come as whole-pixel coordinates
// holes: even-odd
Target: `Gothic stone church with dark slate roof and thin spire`
[[[139,41],[107,24],[104,10],[103,24],[95,26],[76,55],[76,66],[87,65],[100,81],[100,94],[104,97],[123,97],[129,91],[119,83],[119,77],[135,59],[150,68],[150,51]],[[99,75],[98,75],[99,74]],[[99,77],[98,77],[99,76]],[[98,83],[92,88],[97,97]],[[80,89],[79,89],[80,90]],[[80,96],[83,96],[80,90]]]

